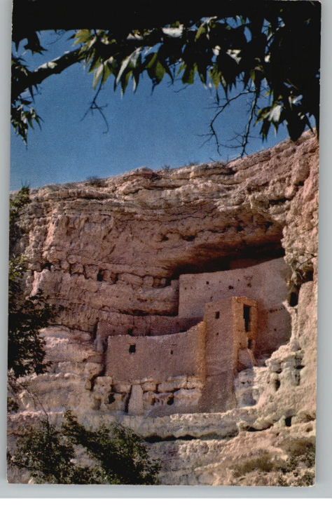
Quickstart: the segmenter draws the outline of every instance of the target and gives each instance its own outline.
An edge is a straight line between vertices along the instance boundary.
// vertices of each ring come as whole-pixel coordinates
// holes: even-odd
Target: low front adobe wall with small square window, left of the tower
[[[205,379],[205,323],[174,335],[109,337],[105,375],[111,410],[195,412]]]

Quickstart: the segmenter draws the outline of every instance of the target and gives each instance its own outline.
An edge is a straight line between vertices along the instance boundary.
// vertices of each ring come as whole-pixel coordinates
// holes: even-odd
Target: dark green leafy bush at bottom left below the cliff
[[[78,447],[83,447],[92,464],[77,463]],[[48,419],[38,428],[26,429],[8,461],[29,470],[36,483],[155,484],[160,469],[132,430],[113,423],[92,431],[78,423],[70,411],[60,429]]]

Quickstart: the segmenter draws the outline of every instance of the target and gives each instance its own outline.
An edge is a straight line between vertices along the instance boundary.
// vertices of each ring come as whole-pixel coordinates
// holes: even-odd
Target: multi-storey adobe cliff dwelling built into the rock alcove
[[[110,314],[96,337],[112,381],[108,409],[162,415],[235,407],[237,373],[289,339],[288,277],[283,258],[184,274],[177,316]]]

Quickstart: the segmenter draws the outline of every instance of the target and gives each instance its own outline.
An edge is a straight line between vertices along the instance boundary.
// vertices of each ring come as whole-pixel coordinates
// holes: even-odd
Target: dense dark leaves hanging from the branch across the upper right
[[[312,11],[313,14],[313,11]],[[311,15],[312,15],[311,14]],[[242,87],[253,96],[252,114],[266,139],[270,126],[286,123],[296,140],[319,113],[319,39],[307,8],[279,6],[266,17],[256,13],[220,19],[216,16],[162,29],[134,30],[126,41],[106,30],[76,33],[84,60],[94,73],[94,85],[114,76],[123,93],[130,80],[134,90],[142,74],[157,86],[165,75],[188,85],[198,76],[203,84],[223,88],[226,99]],[[314,36],[314,41],[312,40]],[[269,105],[259,107],[261,95]]]

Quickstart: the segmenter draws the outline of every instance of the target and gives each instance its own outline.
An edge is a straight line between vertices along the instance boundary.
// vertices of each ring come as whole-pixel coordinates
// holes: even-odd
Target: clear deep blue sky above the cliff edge
[[[43,55],[23,55],[32,68],[70,50],[67,34],[61,38],[53,32],[41,39],[47,49]],[[19,51],[20,53],[20,51]],[[22,54],[22,53],[20,53]],[[202,146],[200,137],[208,132],[214,110],[214,95],[198,81],[182,89],[183,85],[169,86],[165,80],[151,94],[151,81],[143,79],[136,93],[129,89],[121,97],[113,92],[113,84],[106,83],[99,103],[106,105],[104,113],[109,122],[105,134],[102,118],[88,109],[95,94],[92,76],[81,65],[74,65],[59,76],[43,82],[36,95],[35,107],[43,119],[42,128],[31,130],[28,146],[20,137],[12,135],[11,189],[22,184],[39,187],[45,184],[85,180],[86,177],[110,177],[139,166],[157,170],[164,165],[182,166],[192,161],[200,163],[222,159],[226,161],[238,152],[223,149],[216,152],[213,141]],[[235,131],[242,129],[246,102],[221,116],[217,123],[220,139],[227,143]],[[258,135],[258,128],[256,128]],[[251,140],[249,152],[270,147],[287,137],[279,128],[271,131],[268,142]]]

